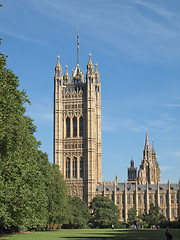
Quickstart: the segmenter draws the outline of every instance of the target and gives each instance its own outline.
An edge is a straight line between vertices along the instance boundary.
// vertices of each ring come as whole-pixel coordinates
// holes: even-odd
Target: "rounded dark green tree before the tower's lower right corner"
[[[118,207],[103,196],[96,196],[90,204],[92,224],[95,228],[110,228],[118,224]]]

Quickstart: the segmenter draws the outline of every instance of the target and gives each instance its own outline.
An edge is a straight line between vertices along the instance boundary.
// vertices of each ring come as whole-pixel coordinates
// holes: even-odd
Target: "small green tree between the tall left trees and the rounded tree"
[[[91,215],[87,204],[79,197],[68,196],[67,213],[63,228],[88,228]]]

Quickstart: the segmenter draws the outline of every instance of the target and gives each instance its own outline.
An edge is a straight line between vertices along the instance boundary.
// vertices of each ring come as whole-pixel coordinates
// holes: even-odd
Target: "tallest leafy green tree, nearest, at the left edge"
[[[25,91],[6,68],[6,57],[0,53],[0,205],[3,212],[0,226],[17,231],[46,223],[47,197],[41,172],[37,167],[38,147],[36,127],[25,116]]]

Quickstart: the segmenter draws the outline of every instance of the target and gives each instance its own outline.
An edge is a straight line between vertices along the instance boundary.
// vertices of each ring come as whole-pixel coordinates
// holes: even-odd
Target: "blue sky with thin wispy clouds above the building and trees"
[[[102,178],[127,179],[139,168],[146,128],[161,182],[180,178],[179,0],[0,0],[0,51],[31,100],[27,114],[52,162],[53,77],[57,55],[65,72],[88,54],[102,84]]]

